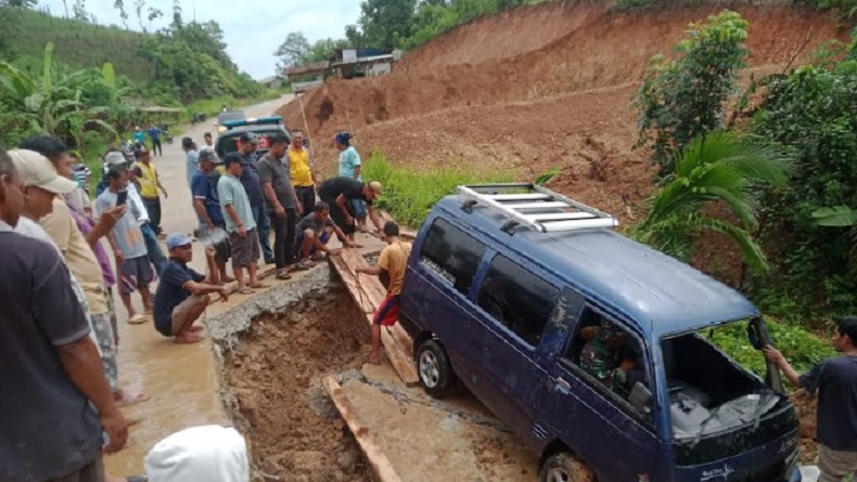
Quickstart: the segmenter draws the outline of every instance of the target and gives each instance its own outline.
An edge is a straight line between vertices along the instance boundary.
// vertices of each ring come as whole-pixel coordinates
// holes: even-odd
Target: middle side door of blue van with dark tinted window
[[[495,255],[481,283],[475,311],[485,334],[483,402],[522,435],[530,433],[535,382],[545,376],[536,348],[560,298],[555,284],[534,274],[532,268]]]

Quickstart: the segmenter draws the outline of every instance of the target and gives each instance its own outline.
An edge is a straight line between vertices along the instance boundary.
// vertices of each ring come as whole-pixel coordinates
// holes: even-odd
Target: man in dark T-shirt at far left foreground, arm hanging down
[[[18,173],[0,148],[0,366],[11,367],[0,370],[0,387],[14,388],[0,390],[0,480],[101,482],[101,454],[121,450],[128,422],[68,270],[52,247],[13,232],[24,206]]]

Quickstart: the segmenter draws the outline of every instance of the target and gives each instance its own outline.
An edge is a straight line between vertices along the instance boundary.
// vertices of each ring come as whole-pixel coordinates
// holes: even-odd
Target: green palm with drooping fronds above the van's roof
[[[651,210],[632,235],[687,261],[695,236],[706,231],[722,233],[739,245],[750,268],[768,271],[767,258],[751,234],[758,225],[757,187],[759,183],[785,185],[789,157],[718,131],[694,139],[674,161],[675,171],[649,199]],[[705,214],[702,209],[709,203],[724,203],[739,223]]]

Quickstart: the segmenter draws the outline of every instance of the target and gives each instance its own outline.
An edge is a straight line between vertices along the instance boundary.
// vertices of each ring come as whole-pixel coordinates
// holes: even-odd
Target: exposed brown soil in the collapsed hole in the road
[[[223,378],[234,394],[233,417],[247,439],[255,480],[373,480],[321,386],[324,376],[359,369],[368,340],[366,316],[334,284],[287,313],[256,320],[226,353]]]

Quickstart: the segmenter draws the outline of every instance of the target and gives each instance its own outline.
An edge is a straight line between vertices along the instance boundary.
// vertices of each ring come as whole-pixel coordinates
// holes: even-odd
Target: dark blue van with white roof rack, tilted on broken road
[[[614,225],[532,184],[440,200],[399,318],[423,388],[470,390],[541,454],[541,481],[800,482],[779,372],[763,380],[707,339],[740,323],[760,349],[758,310]]]

